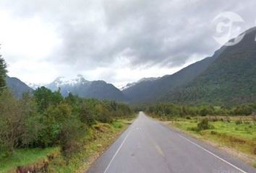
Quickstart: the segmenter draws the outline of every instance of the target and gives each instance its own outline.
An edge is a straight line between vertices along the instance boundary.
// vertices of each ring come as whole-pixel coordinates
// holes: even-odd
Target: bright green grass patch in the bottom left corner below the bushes
[[[17,149],[11,156],[0,159],[0,172],[15,172],[18,166],[35,164],[35,162],[47,159],[47,154],[53,154],[58,151],[59,147]]]

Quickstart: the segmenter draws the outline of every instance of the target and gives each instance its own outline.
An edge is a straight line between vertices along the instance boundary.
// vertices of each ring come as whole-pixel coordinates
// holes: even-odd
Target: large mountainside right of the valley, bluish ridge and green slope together
[[[256,28],[233,46],[172,75],[141,81],[123,90],[132,103],[239,104],[256,101]]]

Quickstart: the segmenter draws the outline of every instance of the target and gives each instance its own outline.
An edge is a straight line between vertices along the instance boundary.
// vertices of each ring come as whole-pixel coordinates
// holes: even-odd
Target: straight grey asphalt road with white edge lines
[[[140,112],[88,173],[256,172],[216,148],[151,120]]]

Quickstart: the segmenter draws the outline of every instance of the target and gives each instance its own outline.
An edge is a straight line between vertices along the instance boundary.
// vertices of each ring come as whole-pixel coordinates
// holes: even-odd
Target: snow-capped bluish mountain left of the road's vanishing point
[[[60,88],[63,96],[72,92],[72,94],[85,98],[125,100],[124,94],[114,85],[107,84],[105,81],[87,81],[81,75],[77,75],[74,79],[59,77],[46,87],[53,91]]]

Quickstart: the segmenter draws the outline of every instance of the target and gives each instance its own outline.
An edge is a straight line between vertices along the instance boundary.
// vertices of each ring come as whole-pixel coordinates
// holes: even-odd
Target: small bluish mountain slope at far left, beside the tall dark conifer
[[[7,76],[6,81],[7,87],[11,89],[13,94],[18,98],[21,98],[24,92],[33,92],[33,89],[27,86],[23,81],[20,81],[20,79]]]

